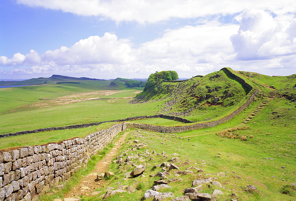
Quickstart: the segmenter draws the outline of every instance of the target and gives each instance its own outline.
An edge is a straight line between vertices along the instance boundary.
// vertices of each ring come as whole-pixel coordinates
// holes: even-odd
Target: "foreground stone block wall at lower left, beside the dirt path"
[[[59,182],[69,179],[125,129],[116,124],[85,138],[0,152],[0,201],[38,200],[51,188],[61,188]]]

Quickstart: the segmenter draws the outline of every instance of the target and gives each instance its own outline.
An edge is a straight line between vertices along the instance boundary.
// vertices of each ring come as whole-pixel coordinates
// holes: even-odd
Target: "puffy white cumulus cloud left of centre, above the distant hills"
[[[118,40],[115,34],[105,33],[102,37],[90,36],[80,40],[70,48],[62,46],[48,50],[42,55],[42,60],[53,61],[57,65],[126,64],[133,60],[130,54],[130,41]]]

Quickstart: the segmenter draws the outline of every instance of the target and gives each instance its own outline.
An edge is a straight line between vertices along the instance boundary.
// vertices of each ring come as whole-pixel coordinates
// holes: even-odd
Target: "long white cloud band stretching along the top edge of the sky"
[[[233,15],[246,9],[263,9],[283,15],[296,11],[296,2],[291,0],[255,1],[243,0],[17,0],[30,7],[61,10],[76,15],[99,16],[140,24],[155,23],[170,18],[196,18],[209,15]]]

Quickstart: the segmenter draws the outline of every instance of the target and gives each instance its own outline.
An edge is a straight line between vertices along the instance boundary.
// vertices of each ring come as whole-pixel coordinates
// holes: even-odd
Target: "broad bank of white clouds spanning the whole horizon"
[[[295,73],[296,19],[287,14],[273,17],[263,10],[247,10],[239,24],[205,24],[167,30],[163,36],[135,48],[115,34],[90,36],[73,46],[48,50],[43,55],[0,57],[1,66],[28,66],[4,73],[11,75],[125,78],[148,77],[161,70],[176,70],[179,77],[205,75],[231,67],[270,75]],[[290,72],[290,73],[289,73]],[[4,75],[1,72],[2,75]]]

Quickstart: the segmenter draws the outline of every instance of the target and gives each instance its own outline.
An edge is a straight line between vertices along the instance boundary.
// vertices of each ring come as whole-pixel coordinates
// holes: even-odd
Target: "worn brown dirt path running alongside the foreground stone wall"
[[[109,154],[106,154],[105,157],[102,160],[100,160],[99,163],[96,164],[92,173],[84,176],[80,183],[77,186],[75,186],[71,190],[71,192],[64,196],[65,198],[77,195],[87,195],[94,192],[96,188],[102,187],[102,185],[104,184],[104,180],[94,180],[96,179],[96,176],[98,174],[104,173],[108,170],[108,166],[111,163],[112,159],[115,155],[118,154],[118,149],[126,141],[125,139],[127,134],[128,132],[123,134],[123,136],[116,142],[115,147],[110,150]]]

